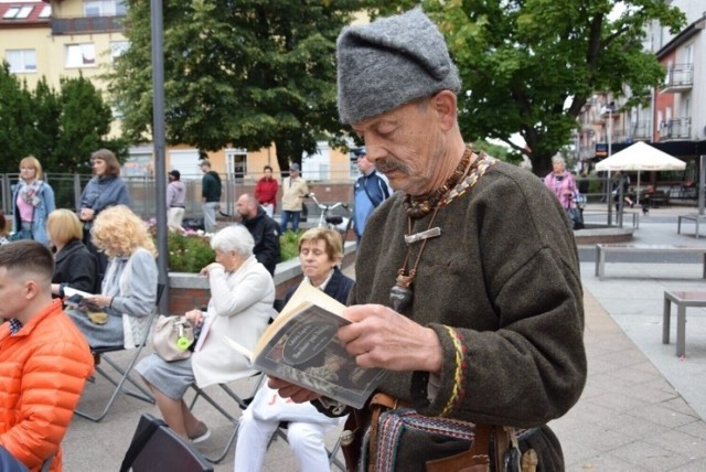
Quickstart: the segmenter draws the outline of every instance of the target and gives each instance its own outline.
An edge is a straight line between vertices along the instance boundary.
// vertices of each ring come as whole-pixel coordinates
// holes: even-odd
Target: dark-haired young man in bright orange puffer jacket
[[[60,444],[94,368],[85,337],[52,300],[53,272],[41,243],[0,246],[0,446],[30,471],[50,458],[50,470],[62,470]]]

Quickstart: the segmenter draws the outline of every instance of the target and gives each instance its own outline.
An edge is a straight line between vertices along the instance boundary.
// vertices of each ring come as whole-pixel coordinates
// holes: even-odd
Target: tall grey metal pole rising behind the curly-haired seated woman
[[[150,14],[152,24],[152,139],[154,142],[154,179],[157,202],[157,268],[159,269],[159,282],[164,285],[164,291],[160,299],[160,313],[169,313],[169,249],[167,247],[167,170],[164,160],[164,51],[162,1],[150,0]]]

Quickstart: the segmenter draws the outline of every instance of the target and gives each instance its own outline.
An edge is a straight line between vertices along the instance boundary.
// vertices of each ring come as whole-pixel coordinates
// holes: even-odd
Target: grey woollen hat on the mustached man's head
[[[439,90],[461,89],[446,41],[421,8],[346,26],[336,50],[343,124],[363,121]]]

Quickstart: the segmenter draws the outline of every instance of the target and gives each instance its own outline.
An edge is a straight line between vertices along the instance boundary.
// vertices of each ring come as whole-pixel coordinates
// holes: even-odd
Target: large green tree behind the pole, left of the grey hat
[[[203,150],[275,142],[282,169],[338,137],[335,39],[355,0],[165,2],[164,95],[169,143]],[[150,10],[130,3],[130,47],[108,74],[127,139],[150,139]]]

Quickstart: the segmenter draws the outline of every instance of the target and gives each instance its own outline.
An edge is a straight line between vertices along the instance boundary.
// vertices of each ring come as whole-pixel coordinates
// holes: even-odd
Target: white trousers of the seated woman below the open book
[[[247,408],[240,417],[238,441],[235,447],[235,472],[259,472],[263,470],[269,438],[279,426],[278,421],[264,421],[253,417]],[[329,472],[324,437],[335,425],[291,421],[287,427],[287,442],[297,465],[304,472]]]

